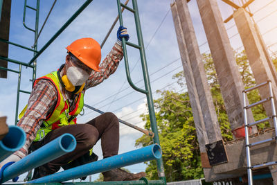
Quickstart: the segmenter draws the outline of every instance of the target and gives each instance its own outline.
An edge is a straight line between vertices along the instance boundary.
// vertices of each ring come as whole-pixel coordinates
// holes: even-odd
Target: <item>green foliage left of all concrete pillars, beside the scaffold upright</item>
[[[154,100],[154,106],[159,110],[156,113],[157,125],[168,181],[204,177],[188,93],[160,93],[162,97]],[[143,120],[149,129],[149,115],[143,115]],[[151,143],[152,139],[145,135],[136,140],[136,146],[148,146]],[[155,161],[148,162],[146,173],[149,179],[157,179]]]

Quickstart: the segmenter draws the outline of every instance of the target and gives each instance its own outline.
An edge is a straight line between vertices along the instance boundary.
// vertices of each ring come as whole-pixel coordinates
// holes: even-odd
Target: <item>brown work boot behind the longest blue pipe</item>
[[[104,181],[134,181],[146,176],[144,172],[134,174],[120,168],[103,172],[102,175],[104,176]]]

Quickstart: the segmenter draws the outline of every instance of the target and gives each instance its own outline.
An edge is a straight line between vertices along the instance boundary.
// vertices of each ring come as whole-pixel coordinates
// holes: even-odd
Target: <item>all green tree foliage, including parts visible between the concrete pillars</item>
[[[245,87],[249,88],[256,85],[245,52],[235,53],[235,58]],[[224,100],[220,93],[220,85],[217,80],[213,59],[211,54],[204,54],[203,59],[222,138],[224,141],[231,141],[233,140],[233,135]],[[273,61],[274,64],[277,64],[277,59]],[[186,85],[183,71],[175,74],[173,78],[177,78],[177,83],[180,87]],[[204,177],[188,92],[177,93],[173,90],[166,90],[159,91],[159,93],[161,98],[154,100],[154,107],[168,182]],[[251,91],[248,98],[250,103],[260,100],[258,91]],[[260,118],[265,118],[265,109],[262,106],[253,108],[252,112],[256,121]],[[145,128],[150,129],[149,115],[143,114],[141,117],[143,121],[146,121]],[[258,130],[262,130],[268,125],[268,123],[260,124]],[[149,146],[150,144],[152,144],[152,140],[145,135],[136,140],[136,146]],[[146,164],[148,164],[146,168],[148,179],[157,179],[155,161],[150,161]]]

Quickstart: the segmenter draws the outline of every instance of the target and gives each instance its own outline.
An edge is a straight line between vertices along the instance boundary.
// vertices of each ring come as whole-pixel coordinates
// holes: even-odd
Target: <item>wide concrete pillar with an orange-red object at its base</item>
[[[229,117],[231,129],[244,125],[242,90],[244,85],[235,62],[233,50],[222,21],[216,0],[197,0],[208,45],[215,64],[220,90]],[[248,120],[253,122],[251,110]],[[253,132],[257,132],[253,127]]]

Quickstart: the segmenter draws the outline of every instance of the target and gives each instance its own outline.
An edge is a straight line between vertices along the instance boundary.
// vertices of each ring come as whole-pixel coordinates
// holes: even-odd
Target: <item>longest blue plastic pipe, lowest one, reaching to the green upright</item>
[[[138,164],[145,161],[161,158],[161,147],[158,144],[153,144],[144,148],[126,152],[120,155],[115,155],[94,161],[89,164],[84,164],[69,170],[64,170],[60,173],[55,173],[39,179],[34,179],[28,183],[48,183],[48,182],[64,182],[70,179],[78,179],[87,175],[105,172],[114,168]]]

